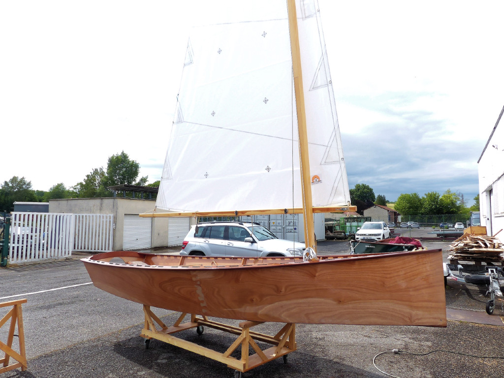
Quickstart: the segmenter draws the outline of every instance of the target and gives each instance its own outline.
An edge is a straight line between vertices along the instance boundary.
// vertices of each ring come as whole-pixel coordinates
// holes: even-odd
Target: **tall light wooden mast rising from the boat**
[[[308,159],[308,137],[306,133],[306,114],[304,111],[303,79],[301,73],[301,53],[297,30],[296,2],[287,0],[289,14],[290,48],[292,54],[292,74],[294,77],[294,92],[296,95],[296,112],[299,132],[299,156],[301,163],[301,187],[303,193],[304,242],[306,247],[315,248],[315,232],[313,228],[313,209],[311,200],[311,179]]]

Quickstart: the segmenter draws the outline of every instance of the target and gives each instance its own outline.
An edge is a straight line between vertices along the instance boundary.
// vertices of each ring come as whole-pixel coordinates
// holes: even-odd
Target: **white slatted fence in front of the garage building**
[[[12,263],[61,259],[72,250],[112,250],[112,214],[12,213]]]

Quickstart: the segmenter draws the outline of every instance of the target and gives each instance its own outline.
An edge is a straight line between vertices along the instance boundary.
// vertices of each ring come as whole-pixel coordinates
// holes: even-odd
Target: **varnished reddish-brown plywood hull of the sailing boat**
[[[114,263],[116,257],[127,264]],[[115,251],[82,261],[96,287],[179,312],[258,322],[446,326],[440,249],[317,262]]]

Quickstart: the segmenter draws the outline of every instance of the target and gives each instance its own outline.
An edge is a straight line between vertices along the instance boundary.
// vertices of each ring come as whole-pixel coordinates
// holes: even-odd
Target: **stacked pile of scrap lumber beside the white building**
[[[504,245],[493,236],[465,233],[452,244],[448,259],[463,261],[504,261]]]

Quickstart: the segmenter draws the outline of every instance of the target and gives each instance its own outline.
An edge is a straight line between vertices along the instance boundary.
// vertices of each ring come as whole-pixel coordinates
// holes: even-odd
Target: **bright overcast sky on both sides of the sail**
[[[210,4],[0,0],[0,182],[70,187],[122,150],[159,179],[187,27]],[[471,205],[504,105],[504,2],[319,4],[350,187]]]

